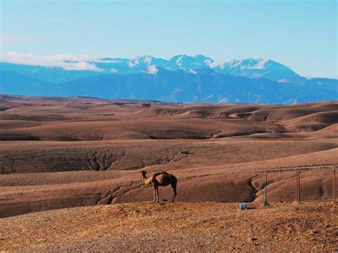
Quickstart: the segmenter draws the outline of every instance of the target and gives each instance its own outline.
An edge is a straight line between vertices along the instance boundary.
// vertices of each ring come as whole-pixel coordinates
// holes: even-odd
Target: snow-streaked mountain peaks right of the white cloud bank
[[[232,61],[214,61],[212,58],[197,55],[173,56],[169,60],[155,58],[152,56],[140,56],[132,59],[126,58],[101,58],[101,63],[89,62],[101,71],[112,73],[138,73],[145,71],[156,73],[156,68],[165,68],[168,71],[184,70],[194,73],[198,69],[211,68],[217,73],[227,73],[235,76],[246,76],[248,78],[270,78],[280,80],[283,78],[297,78],[299,75],[290,68],[262,58],[242,58]],[[106,62],[104,62],[106,61]]]

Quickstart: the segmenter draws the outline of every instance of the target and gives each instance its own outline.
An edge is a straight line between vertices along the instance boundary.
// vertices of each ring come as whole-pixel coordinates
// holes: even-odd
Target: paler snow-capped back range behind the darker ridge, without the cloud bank
[[[81,61],[64,61],[80,63]],[[99,58],[95,61],[88,60],[91,66],[95,66],[98,71],[93,70],[76,70],[69,71],[61,67],[24,65],[9,62],[1,62],[0,70],[16,71],[18,73],[39,78],[42,81],[51,83],[61,83],[71,81],[77,78],[88,76],[98,76],[102,74],[132,74],[132,73],[153,73],[158,68],[164,68],[168,71],[188,71],[194,73],[198,69],[211,68],[217,73],[227,73],[235,76],[245,76],[247,78],[268,78],[274,81],[285,78],[299,78],[300,76],[287,66],[262,58],[243,58],[232,61],[214,61],[212,58],[197,55],[177,55],[166,60],[155,58],[153,56],[138,56],[135,58]]]

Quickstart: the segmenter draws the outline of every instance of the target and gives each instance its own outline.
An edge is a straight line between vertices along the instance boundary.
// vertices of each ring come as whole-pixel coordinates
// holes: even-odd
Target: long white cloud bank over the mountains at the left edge
[[[88,61],[96,61],[93,56],[77,56],[71,54],[60,54],[54,56],[36,57],[34,54],[17,52],[1,53],[0,60],[6,63],[16,63],[34,66],[59,67],[68,71],[103,71]],[[102,61],[102,60],[98,60]]]

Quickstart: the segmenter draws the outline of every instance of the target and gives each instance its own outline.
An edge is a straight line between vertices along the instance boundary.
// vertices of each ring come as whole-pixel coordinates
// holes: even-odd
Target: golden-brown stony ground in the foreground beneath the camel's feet
[[[338,249],[332,202],[139,202],[36,212],[0,220],[1,251],[329,251]]]

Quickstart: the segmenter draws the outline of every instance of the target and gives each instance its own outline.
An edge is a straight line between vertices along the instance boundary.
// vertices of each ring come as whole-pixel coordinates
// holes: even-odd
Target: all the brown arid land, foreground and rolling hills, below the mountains
[[[337,168],[337,101],[0,95],[0,250],[337,250]],[[178,203],[140,170],[175,175]]]

